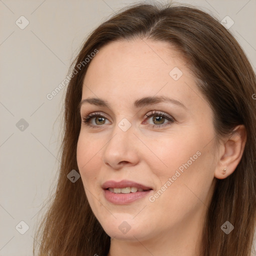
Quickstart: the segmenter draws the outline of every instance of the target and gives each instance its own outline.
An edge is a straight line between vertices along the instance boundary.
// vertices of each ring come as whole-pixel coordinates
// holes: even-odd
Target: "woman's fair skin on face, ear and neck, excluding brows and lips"
[[[174,67],[183,73],[177,80],[169,75]],[[185,107],[170,102],[133,107],[138,98],[160,95]],[[93,112],[105,118],[92,118],[94,128],[82,122],[77,143],[86,196],[111,237],[108,256],[199,256],[202,223],[215,179],[227,177],[237,166],[246,140],[244,127],[237,126],[232,137],[221,138],[216,146],[211,107],[197,89],[185,59],[162,41],[122,40],[102,47],[84,77],[82,99],[88,97],[107,100],[110,105],[82,104],[82,119]],[[160,123],[165,125],[156,127],[159,122],[153,117],[159,114],[145,117],[151,110],[166,113],[174,121],[163,118]],[[126,131],[118,126],[123,118],[131,124]],[[169,178],[191,157],[192,163],[166,188]],[[224,168],[227,171],[221,174]],[[110,203],[101,185],[122,179],[152,190],[128,204]],[[164,184],[162,194],[150,201],[149,196]],[[118,228],[123,221],[130,226],[126,233]]]

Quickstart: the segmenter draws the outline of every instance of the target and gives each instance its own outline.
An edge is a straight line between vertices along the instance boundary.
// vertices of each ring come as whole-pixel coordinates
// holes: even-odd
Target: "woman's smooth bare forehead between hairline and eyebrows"
[[[133,39],[111,42],[90,60],[82,97],[127,98],[166,94],[175,99],[198,97],[186,60],[168,42]],[[199,92],[197,92],[199,93]],[[191,100],[190,100],[191,101]]]

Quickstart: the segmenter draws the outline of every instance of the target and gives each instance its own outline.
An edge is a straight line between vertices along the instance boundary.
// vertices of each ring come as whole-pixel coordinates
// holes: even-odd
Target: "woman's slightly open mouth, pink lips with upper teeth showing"
[[[114,204],[126,204],[145,197],[151,190],[148,187],[130,180],[109,180],[103,183],[105,199]]]

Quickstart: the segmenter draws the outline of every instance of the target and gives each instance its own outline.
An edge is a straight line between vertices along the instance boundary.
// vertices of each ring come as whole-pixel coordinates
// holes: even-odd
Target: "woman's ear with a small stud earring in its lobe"
[[[247,133],[244,125],[237,125],[231,136],[222,139],[214,177],[223,179],[235,170],[242,157],[246,139]],[[222,174],[223,169],[226,169],[224,174]]]

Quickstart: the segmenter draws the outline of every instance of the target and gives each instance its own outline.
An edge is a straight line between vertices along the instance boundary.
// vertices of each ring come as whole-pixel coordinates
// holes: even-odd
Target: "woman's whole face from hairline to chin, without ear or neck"
[[[215,133],[186,61],[148,39],[111,42],[90,61],[77,163],[103,229],[142,241],[198,227],[213,188]]]

